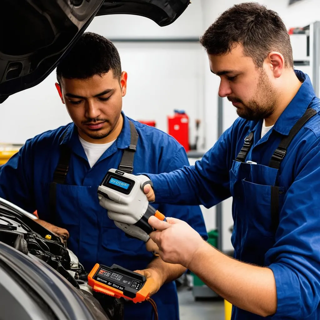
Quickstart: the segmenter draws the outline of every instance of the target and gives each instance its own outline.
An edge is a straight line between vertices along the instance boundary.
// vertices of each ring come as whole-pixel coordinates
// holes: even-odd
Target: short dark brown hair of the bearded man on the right
[[[200,37],[208,54],[223,55],[235,44],[242,44],[244,54],[251,57],[256,67],[272,51],[284,56],[285,66],[293,68],[292,47],[284,22],[265,6],[248,2],[235,4],[223,12]]]

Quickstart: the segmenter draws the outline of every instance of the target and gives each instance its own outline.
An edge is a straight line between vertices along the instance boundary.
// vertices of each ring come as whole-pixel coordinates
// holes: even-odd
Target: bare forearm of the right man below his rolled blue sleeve
[[[276,312],[276,282],[271,269],[230,258],[205,242],[188,268],[233,305],[260,316]]]

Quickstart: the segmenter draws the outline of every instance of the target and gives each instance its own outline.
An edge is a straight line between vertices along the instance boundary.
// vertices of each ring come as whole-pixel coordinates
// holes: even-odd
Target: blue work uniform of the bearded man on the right
[[[299,91],[262,138],[263,120],[238,118],[194,166],[148,176],[159,202],[209,208],[232,196],[235,258],[267,266],[276,280],[277,309],[267,318],[319,320],[320,108],[309,77],[295,73]],[[294,136],[277,170],[269,161],[307,108],[315,115]],[[238,161],[250,133],[252,146]],[[279,149],[275,159],[282,157]],[[233,308],[232,319],[265,318]]]

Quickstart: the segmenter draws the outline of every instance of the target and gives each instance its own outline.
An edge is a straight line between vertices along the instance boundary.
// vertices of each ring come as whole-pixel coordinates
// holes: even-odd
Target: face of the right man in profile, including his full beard
[[[242,45],[225,55],[209,55],[209,64],[221,79],[219,96],[232,102],[238,116],[259,120],[274,112],[278,93],[266,72],[268,65],[256,68],[252,58],[243,54]]]

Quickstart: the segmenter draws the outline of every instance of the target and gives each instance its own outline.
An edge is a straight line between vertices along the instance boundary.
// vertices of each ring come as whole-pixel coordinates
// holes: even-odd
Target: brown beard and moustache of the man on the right
[[[238,98],[228,97],[227,99],[231,102],[242,103],[242,107],[236,108],[236,113],[239,117],[246,120],[257,121],[271,116],[275,110],[278,93],[272,86],[264,69],[260,72],[257,91],[254,97],[246,103]]]

